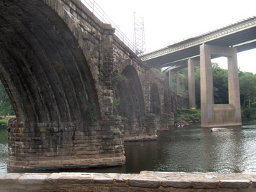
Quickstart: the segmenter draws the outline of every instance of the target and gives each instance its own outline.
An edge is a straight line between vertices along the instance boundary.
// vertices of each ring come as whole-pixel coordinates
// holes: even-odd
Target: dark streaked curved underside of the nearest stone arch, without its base
[[[23,122],[86,119],[88,99],[98,106],[96,89],[86,58],[66,23],[47,5],[43,11],[22,2],[11,6],[4,11],[15,16],[12,20],[5,18],[4,11],[0,13],[4,25],[0,62],[1,81],[16,116]],[[14,8],[21,11],[21,18]],[[28,8],[33,11],[24,11]],[[48,19],[53,15],[54,19]],[[100,110],[96,114],[101,117]]]

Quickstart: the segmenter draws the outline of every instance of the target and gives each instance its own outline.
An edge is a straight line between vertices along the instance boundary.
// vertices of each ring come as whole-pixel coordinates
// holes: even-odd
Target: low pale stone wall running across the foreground
[[[1,191],[256,191],[255,174],[171,173],[140,174],[0,174]]]

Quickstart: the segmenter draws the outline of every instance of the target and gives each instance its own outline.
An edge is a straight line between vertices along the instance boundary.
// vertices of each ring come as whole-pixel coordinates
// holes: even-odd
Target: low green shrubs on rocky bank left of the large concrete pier
[[[183,120],[185,122],[198,122],[201,120],[201,113],[198,112],[197,110],[176,110],[177,115],[177,120]]]

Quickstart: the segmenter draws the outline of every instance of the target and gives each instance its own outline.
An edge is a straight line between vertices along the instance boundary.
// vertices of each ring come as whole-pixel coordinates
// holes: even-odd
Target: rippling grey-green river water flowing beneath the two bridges
[[[200,124],[170,127],[168,132],[158,132],[157,141],[126,143],[125,166],[73,171],[256,172],[256,121],[243,122],[242,127],[232,129],[210,132]],[[0,174],[7,172],[7,135],[6,129],[0,129]]]

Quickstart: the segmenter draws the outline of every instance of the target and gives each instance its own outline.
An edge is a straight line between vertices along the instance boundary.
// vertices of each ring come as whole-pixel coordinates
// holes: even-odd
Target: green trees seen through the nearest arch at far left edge
[[[0,81],[0,115],[6,116],[7,114],[14,115],[14,109],[11,105],[4,85]]]

